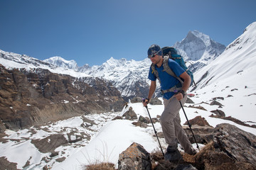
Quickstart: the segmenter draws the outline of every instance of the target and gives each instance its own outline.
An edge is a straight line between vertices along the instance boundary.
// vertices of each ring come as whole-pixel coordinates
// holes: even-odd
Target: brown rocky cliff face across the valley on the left
[[[121,111],[124,101],[102,79],[53,74],[46,69],[6,69],[0,64],[0,132],[75,115]]]

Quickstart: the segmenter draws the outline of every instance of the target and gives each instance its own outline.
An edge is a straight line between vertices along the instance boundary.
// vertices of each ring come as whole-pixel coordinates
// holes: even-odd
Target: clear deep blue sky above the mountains
[[[1,0],[0,49],[78,66],[144,60],[151,44],[198,30],[229,45],[256,21],[255,0]]]

